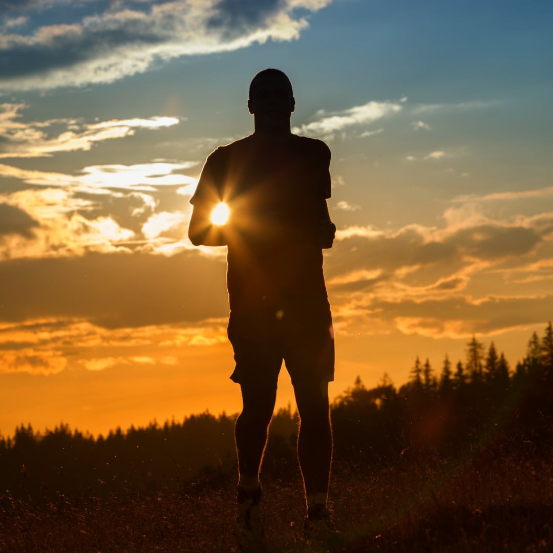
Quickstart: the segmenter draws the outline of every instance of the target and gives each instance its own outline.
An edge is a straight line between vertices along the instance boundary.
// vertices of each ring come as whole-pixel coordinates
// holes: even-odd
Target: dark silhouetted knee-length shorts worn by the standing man
[[[334,379],[334,333],[326,298],[232,310],[227,333],[236,362],[231,380],[238,384],[276,389],[283,360],[294,387]]]

